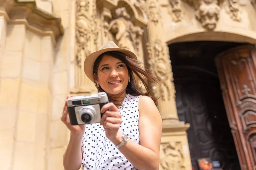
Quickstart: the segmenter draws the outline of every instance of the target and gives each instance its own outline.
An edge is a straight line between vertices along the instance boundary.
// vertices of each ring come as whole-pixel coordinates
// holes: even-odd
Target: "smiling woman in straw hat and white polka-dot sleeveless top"
[[[135,54],[112,41],[86,57],[84,72],[110,103],[102,107],[100,123],[72,126],[66,100],[61,120],[70,141],[64,169],[79,170],[82,164],[83,170],[158,170],[162,119],[147,84],[156,79],[143,71]],[[146,93],[137,90],[135,77]]]

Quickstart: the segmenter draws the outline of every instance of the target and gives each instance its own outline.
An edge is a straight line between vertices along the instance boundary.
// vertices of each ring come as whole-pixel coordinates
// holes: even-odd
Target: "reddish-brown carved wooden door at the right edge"
[[[242,170],[256,170],[256,50],[251,45],[215,59]]]

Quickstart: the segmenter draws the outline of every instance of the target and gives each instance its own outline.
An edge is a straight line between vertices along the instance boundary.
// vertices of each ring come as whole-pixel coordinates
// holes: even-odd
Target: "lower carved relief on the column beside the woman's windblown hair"
[[[160,80],[159,92],[161,98],[163,100],[170,100],[173,78],[169,51],[167,45],[162,45],[161,40],[155,40],[153,45],[147,44],[149,69]],[[152,85],[152,91],[156,91],[155,85]],[[157,97],[156,93],[154,95]]]

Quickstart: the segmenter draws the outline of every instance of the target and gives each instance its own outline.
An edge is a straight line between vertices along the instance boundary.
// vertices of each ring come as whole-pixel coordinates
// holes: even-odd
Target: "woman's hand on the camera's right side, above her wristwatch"
[[[122,142],[122,133],[119,131],[119,127],[122,123],[122,116],[119,113],[118,108],[116,108],[116,105],[113,103],[107,103],[102,106],[101,113],[104,114],[100,121],[100,125],[103,125],[107,138],[111,140],[113,144],[119,144]]]

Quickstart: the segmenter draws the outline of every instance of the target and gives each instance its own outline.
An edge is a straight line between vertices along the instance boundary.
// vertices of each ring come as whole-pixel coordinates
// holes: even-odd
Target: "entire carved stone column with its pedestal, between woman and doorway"
[[[163,134],[160,147],[160,170],[191,170],[191,160],[186,130],[189,125],[180,122],[175,103],[169,48],[165,42],[163,23],[157,0],[146,1],[148,12],[148,65],[151,74],[160,79],[151,84],[158,99],[158,109],[163,119]]]

